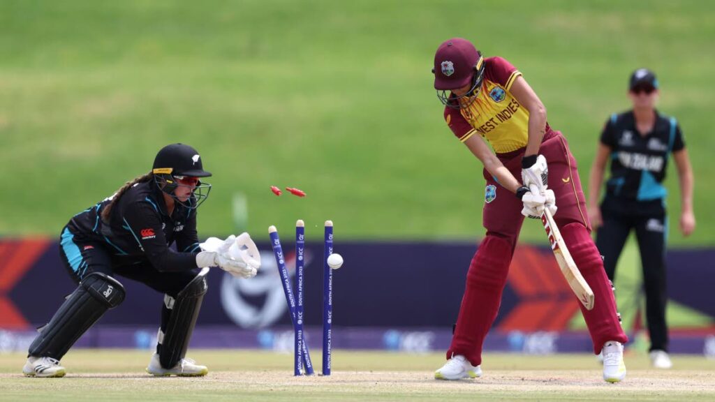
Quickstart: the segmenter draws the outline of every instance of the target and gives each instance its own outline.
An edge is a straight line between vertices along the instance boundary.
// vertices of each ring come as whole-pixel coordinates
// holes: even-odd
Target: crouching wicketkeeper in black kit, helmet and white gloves
[[[260,260],[245,261],[240,253],[230,253],[233,235],[213,250],[202,251],[196,210],[209,195],[211,185],[201,181],[209,176],[196,149],[170,144],[157,153],[152,171],[72,217],[62,230],[59,251],[78,286],[30,345],[22,369],[26,376],[64,376],[62,356],[124,300],[117,275],[164,293],[157,350],[147,372],[208,373],[206,366],[185,358],[207,291],[207,267],[218,266],[242,278],[252,278],[260,268]],[[169,248],[174,242],[178,252]]]

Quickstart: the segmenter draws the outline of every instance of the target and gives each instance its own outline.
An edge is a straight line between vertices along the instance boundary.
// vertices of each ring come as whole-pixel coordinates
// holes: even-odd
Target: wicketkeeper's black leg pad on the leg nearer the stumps
[[[163,368],[172,368],[186,356],[189,347],[189,340],[194,332],[196,320],[199,318],[199,310],[204,300],[204,295],[208,290],[206,275],[209,268],[201,270],[177,297],[164,298],[164,305],[171,310],[169,323],[164,333],[163,339],[159,334],[159,343],[162,344],[159,351],[159,362]]]

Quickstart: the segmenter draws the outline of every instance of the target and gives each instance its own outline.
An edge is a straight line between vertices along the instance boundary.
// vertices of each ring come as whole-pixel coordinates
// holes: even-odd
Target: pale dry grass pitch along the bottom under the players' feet
[[[316,350],[314,353],[317,353]],[[0,355],[1,401],[712,401],[715,362],[674,356],[671,371],[628,356],[628,377],[601,379],[593,356],[485,355],[484,376],[436,381],[443,354],[408,355],[336,350],[330,378],[294,378],[292,356],[249,350],[194,350],[205,378],[153,378],[147,352],[76,350],[65,378],[24,378],[24,354]],[[320,356],[315,355],[315,356]]]

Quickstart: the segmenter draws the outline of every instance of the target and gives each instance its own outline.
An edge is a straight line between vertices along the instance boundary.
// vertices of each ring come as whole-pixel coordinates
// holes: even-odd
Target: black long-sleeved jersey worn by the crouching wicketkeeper
[[[119,263],[144,261],[159,271],[197,268],[195,253],[200,250],[195,209],[177,202],[172,215],[167,215],[162,191],[153,180],[124,192],[112,207],[107,224],[100,214],[111,200],[109,197],[74,215],[62,237],[102,245]],[[169,248],[173,242],[178,253]]]

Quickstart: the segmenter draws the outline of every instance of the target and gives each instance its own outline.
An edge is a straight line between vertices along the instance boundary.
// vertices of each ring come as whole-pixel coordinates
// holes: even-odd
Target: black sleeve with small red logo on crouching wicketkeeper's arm
[[[137,239],[149,263],[159,272],[197,268],[193,253],[177,253],[167,245],[162,220],[149,202],[134,202],[124,210],[122,227]]]

